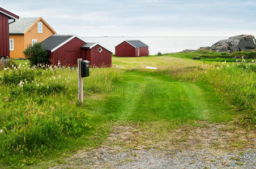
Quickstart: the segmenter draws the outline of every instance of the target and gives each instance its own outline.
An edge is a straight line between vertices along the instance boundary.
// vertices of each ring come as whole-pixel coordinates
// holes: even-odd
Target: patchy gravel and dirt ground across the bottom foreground
[[[255,131],[199,122],[115,126],[99,148],[82,150],[54,168],[255,168]]]

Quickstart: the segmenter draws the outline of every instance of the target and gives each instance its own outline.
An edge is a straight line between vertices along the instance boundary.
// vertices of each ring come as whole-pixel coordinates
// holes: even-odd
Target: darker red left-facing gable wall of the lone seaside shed
[[[137,49],[127,42],[120,43],[115,49],[115,55],[118,57],[137,57]]]

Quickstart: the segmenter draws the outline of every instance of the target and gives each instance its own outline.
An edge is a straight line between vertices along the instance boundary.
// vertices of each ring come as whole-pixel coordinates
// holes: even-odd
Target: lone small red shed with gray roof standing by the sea
[[[117,57],[140,57],[148,56],[148,46],[142,41],[123,41],[116,46]]]

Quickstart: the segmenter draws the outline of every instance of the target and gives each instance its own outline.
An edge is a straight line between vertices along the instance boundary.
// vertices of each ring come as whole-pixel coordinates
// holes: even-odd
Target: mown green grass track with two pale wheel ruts
[[[97,109],[97,114],[114,121],[222,122],[232,117],[211,88],[154,73],[123,73],[123,80],[113,88],[113,94],[99,102],[101,113]]]

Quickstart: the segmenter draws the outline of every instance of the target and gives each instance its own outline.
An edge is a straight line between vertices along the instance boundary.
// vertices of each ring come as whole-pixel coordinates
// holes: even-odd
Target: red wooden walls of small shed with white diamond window
[[[99,52],[98,49],[101,47],[103,51]],[[106,50],[104,47],[96,45],[91,49],[84,49],[86,60],[90,61],[90,66],[96,67],[110,67],[112,65],[112,52]]]

